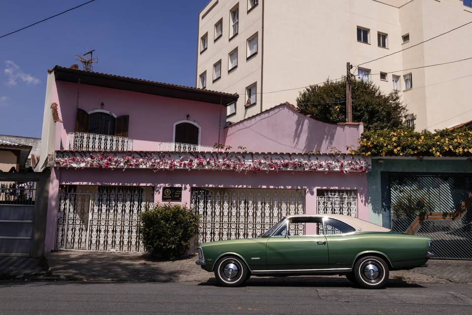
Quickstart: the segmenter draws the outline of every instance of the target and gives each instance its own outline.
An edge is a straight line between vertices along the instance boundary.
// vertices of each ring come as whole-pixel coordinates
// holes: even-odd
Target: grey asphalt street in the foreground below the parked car
[[[471,314],[472,284],[0,282],[0,314]]]

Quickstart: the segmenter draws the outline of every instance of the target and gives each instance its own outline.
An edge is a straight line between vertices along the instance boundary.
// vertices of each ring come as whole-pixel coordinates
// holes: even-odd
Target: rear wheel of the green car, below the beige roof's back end
[[[380,289],[388,281],[388,265],[380,257],[366,256],[354,264],[354,276],[357,283],[366,289]]]

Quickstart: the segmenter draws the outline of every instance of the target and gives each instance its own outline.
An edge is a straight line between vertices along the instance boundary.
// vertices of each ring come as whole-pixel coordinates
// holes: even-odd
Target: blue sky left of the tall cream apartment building
[[[0,0],[0,35],[86,0]],[[47,69],[95,49],[94,70],[195,85],[207,0],[96,0],[0,39],[0,134],[40,137]]]

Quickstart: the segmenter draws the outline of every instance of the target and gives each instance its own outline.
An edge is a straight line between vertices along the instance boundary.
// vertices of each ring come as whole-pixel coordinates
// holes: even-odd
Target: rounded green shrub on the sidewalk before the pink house
[[[141,215],[140,233],[146,250],[177,259],[198,231],[199,216],[178,204],[157,204]]]

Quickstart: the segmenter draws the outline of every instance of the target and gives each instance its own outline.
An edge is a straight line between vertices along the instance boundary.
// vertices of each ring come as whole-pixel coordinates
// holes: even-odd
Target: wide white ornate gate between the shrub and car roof
[[[304,189],[192,189],[198,243],[254,238],[285,216],[305,213]],[[291,234],[304,229],[291,226]]]

